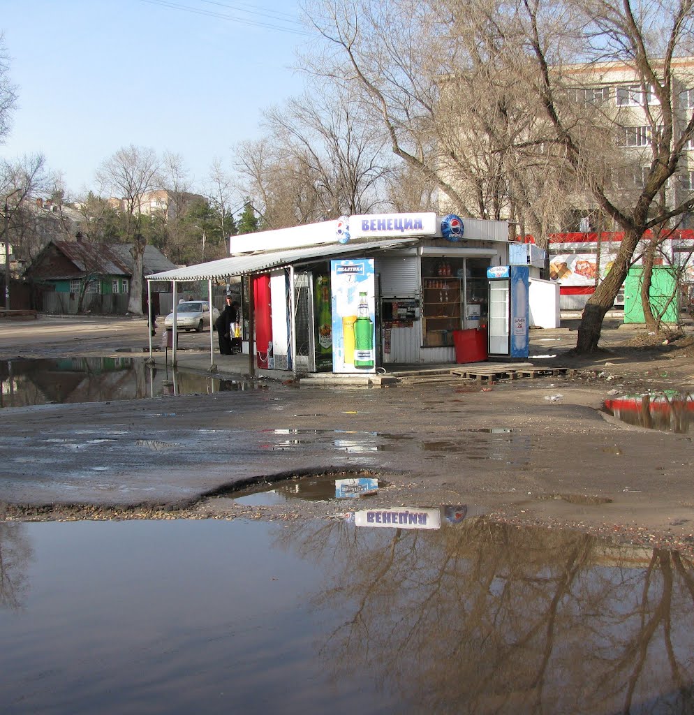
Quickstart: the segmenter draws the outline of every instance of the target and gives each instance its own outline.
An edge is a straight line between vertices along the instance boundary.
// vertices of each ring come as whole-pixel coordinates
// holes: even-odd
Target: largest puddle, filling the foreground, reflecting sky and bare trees
[[[468,517],[0,523],[0,553],[8,713],[694,705],[675,552]]]

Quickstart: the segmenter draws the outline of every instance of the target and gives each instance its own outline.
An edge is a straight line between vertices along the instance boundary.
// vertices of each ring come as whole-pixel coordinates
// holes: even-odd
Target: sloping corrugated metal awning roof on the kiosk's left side
[[[209,261],[194,266],[177,268],[176,270],[154,273],[153,275],[148,275],[147,280],[217,280],[232,275],[258,273],[269,270],[270,268],[291,265],[292,263],[304,260],[330,258],[358,252],[366,254],[372,251],[397,248],[418,241],[419,238],[417,237],[391,238],[382,241],[309,246],[279,251],[267,251],[252,255],[230,256],[229,258],[220,258],[217,261]]]

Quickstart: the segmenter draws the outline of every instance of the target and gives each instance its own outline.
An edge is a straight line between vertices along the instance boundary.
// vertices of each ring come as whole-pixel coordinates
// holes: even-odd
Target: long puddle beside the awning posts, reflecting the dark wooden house
[[[0,360],[0,408],[253,389],[267,390],[267,384],[145,365],[144,359]]]

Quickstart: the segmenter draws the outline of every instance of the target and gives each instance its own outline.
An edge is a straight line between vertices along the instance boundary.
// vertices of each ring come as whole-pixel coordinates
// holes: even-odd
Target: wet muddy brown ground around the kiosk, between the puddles
[[[693,553],[693,433],[632,427],[602,409],[610,395],[694,391],[692,326],[648,335],[608,319],[602,350],[590,358],[572,355],[576,328],[567,320],[531,335],[531,355],[545,356],[531,361],[575,368],[571,377],[382,390],[274,384],[0,410],[1,516],[294,520],[367,506],[467,504],[496,521]],[[204,347],[209,335],[199,340]],[[146,342],[141,320],[0,322],[0,359],[124,350],[139,359]],[[98,452],[73,443],[75,435],[111,433],[115,446],[106,440]],[[197,433],[207,435],[204,448],[187,451]],[[56,449],[61,440],[71,443],[69,454]],[[316,473],[373,474],[387,486],[348,505],[250,508],[232,498],[251,483]]]

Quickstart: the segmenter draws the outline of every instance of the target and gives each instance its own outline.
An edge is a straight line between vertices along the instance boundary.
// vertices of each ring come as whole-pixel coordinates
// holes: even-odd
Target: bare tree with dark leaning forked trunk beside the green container
[[[554,7],[554,6],[553,6]],[[694,114],[678,122],[676,108],[682,88],[678,77],[678,58],[690,53],[693,40],[693,3],[690,0],[660,0],[653,4],[620,4],[589,1],[577,6],[562,6],[562,13],[544,1],[525,0],[519,21],[525,28],[525,54],[537,70],[536,89],[543,117],[550,123],[555,142],[565,152],[570,170],[590,191],[604,214],[624,231],[624,238],[613,267],[598,285],[583,312],[578,331],[578,352],[598,347],[603,318],[627,275],[635,250],[647,230],[662,227],[694,205],[692,197],[670,205],[659,201],[670,177],[678,170],[688,143],[694,136]],[[560,21],[557,21],[557,16]],[[562,44],[560,38],[582,36],[576,46]],[[560,65],[566,59],[588,57],[594,62],[623,62],[640,88],[640,103],[645,111],[650,144],[650,161],[643,166],[643,186],[632,200],[623,202],[615,186],[605,180],[602,157],[586,147],[570,114],[562,112],[560,97],[571,80],[571,69]],[[690,72],[689,82],[694,74]],[[624,130],[614,117],[603,124],[615,133]],[[645,157],[644,157],[645,158]]]

